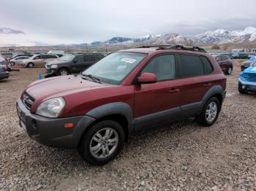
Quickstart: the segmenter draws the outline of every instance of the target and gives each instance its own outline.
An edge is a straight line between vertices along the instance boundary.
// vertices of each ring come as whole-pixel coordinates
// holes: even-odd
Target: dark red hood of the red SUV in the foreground
[[[82,79],[80,75],[70,75],[64,77],[51,77],[33,82],[27,87],[26,93],[31,95],[31,97],[37,101],[43,101],[49,98],[64,97],[65,95],[77,93],[82,90],[91,90],[105,86],[108,85]]]

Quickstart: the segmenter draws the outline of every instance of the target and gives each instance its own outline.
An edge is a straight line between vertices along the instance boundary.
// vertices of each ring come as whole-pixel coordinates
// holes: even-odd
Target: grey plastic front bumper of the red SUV
[[[17,101],[17,112],[20,127],[29,134],[31,139],[49,147],[76,148],[84,130],[94,118],[89,116],[48,118],[31,114],[22,101]],[[73,128],[64,128],[64,124],[73,123]]]

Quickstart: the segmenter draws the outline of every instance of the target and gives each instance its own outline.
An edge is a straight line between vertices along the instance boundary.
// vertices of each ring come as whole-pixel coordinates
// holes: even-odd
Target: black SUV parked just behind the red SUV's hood
[[[64,55],[56,61],[49,61],[45,64],[45,77],[66,76],[69,74],[80,73],[103,57],[104,55],[100,53],[76,53]]]

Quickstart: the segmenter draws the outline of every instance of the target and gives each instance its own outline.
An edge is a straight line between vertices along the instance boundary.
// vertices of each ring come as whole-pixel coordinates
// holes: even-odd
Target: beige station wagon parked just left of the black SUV
[[[48,54],[42,54],[42,55],[33,55],[29,59],[25,59],[20,63],[24,67],[33,68],[34,66],[45,66],[45,63],[47,61],[53,61],[58,59],[58,55],[48,55]]]

